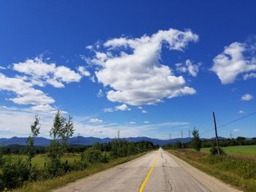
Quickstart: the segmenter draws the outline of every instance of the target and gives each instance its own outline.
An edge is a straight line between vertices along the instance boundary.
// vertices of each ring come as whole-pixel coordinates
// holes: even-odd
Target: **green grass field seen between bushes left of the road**
[[[4,155],[8,156],[8,155]],[[11,155],[13,157],[17,157],[18,155]],[[20,155],[23,158],[27,158],[28,155]],[[78,153],[65,153],[64,157],[62,158],[63,161],[68,161],[69,163],[73,163],[75,161],[80,160],[80,154]],[[47,162],[47,155],[46,154],[41,154],[41,155],[36,155],[34,158],[32,158],[32,165],[33,166],[38,166],[38,167],[43,167],[45,165],[45,162]]]

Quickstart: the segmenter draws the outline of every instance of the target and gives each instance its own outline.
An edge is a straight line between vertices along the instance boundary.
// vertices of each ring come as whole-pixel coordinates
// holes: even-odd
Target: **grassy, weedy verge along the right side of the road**
[[[256,162],[233,155],[213,156],[193,150],[168,150],[178,158],[243,191],[256,191]]]

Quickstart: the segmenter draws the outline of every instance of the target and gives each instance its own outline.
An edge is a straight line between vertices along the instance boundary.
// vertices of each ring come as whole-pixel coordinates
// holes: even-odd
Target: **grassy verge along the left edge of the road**
[[[149,151],[148,151],[149,152]],[[67,183],[74,182],[80,178],[89,176],[91,174],[95,174],[97,172],[102,172],[105,169],[109,169],[118,164],[124,164],[127,161],[131,161],[135,158],[139,158],[142,155],[145,155],[148,152],[139,153],[136,155],[129,155],[128,157],[116,158],[110,160],[108,164],[94,164],[93,166],[85,169],[83,171],[70,172],[69,174],[65,174],[62,177],[56,177],[51,180],[42,180],[34,183],[26,183],[23,188],[16,189],[17,192],[45,192],[50,191],[55,188],[59,188],[61,186],[66,185]]]

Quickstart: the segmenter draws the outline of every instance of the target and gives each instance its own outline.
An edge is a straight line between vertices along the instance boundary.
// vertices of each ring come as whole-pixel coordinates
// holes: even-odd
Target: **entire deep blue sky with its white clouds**
[[[187,137],[255,112],[254,1],[1,1],[0,137]],[[255,116],[219,128],[254,137]],[[211,131],[208,131],[211,130]]]

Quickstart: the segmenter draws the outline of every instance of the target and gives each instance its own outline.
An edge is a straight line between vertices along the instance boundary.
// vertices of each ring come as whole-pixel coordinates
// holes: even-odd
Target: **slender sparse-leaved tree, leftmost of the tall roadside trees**
[[[34,139],[39,135],[40,133],[40,123],[38,115],[34,118],[34,123],[30,126],[31,134],[29,134],[29,138],[27,139],[27,152],[29,155],[29,164],[31,164],[31,159],[34,158],[35,150],[34,150]]]

